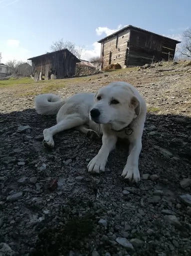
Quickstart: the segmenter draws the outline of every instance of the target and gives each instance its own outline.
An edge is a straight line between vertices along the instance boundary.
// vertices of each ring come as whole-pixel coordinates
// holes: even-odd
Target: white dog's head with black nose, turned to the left
[[[140,114],[140,102],[125,82],[112,82],[100,88],[94,97],[90,119],[100,124],[110,124],[120,130]]]

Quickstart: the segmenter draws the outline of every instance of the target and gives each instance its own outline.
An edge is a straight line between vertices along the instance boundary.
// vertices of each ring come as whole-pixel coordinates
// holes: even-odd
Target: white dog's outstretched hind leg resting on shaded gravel
[[[60,122],[51,126],[48,129],[44,129],[43,136],[44,140],[42,142],[45,148],[53,148],[54,141],[53,136],[64,130],[71,129],[75,126],[79,126],[85,123],[85,120],[79,114],[66,115]]]

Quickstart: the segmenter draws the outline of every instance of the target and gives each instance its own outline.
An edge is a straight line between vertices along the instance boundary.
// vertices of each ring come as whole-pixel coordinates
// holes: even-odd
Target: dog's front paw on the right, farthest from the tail
[[[138,166],[126,164],[121,176],[129,181],[138,182],[140,180],[140,174],[138,171]]]

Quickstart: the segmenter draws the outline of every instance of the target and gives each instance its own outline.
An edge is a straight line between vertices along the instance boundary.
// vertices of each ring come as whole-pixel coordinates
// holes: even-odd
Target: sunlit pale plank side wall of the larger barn
[[[106,39],[104,42],[101,43],[101,57],[103,60],[103,68],[109,64],[110,55],[110,64],[119,63],[121,66],[125,64],[126,47],[128,40],[129,31],[124,31],[118,36],[113,36],[112,38],[108,40]]]

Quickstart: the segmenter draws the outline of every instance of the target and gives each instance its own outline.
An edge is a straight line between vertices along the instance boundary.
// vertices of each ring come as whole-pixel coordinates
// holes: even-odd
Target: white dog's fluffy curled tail
[[[54,115],[57,114],[65,100],[54,94],[39,94],[34,98],[34,107],[38,114]]]

